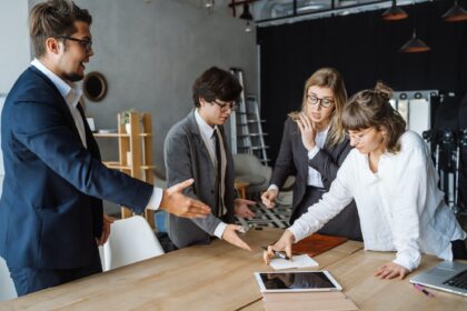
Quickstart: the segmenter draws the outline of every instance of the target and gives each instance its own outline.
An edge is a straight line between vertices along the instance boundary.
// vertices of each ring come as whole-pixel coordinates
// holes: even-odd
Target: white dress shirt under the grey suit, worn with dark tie
[[[195,110],[195,119],[196,119],[196,122],[198,124],[199,132],[201,133],[202,141],[205,142],[206,149],[208,150],[209,158],[211,158],[212,165],[215,168],[217,168],[218,161],[216,159],[216,141],[215,141],[213,136],[212,136],[213,132],[215,132],[215,128],[212,128],[211,126],[206,123],[206,121],[201,118],[201,116],[199,116],[198,109]],[[218,132],[218,141],[223,143],[222,137],[220,136],[220,132],[219,131],[217,131],[217,132]],[[225,175],[226,174],[226,168],[227,168],[226,150],[223,148],[221,148],[220,150],[221,150],[221,157],[222,157],[222,159],[221,159],[222,160],[221,161],[221,163],[222,163],[221,175]],[[225,182],[221,182],[221,193],[225,193],[225,191],[226,191],[223,189],[223,187],[225,187]],[[221,195],[221,197],[222,197],[221,200],[223,202],[223,195]],[[222,207],[219,207],[219,208],[222,209],[223,213],[227,212],[227,209],[226,209],[225,204],[222,204]],[[222,239],[222,234],[223,234],[223,231],[226,230],[226,227],[227,227],[227,223],[221,221],[216,227],[216,230],[215,230],[213,234],[217,238]]]

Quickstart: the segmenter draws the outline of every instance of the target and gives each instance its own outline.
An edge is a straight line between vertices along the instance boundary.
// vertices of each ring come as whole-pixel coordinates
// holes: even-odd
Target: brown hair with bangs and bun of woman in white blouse
[[[378,81],[375,89],[352,96],[344,107],[342,126],[346,131],[368,128],[386,130],[386,148],[390,153],[400,151],[399,138],[406,131],[406,121],[393,108],[389,100],[393,90]]]

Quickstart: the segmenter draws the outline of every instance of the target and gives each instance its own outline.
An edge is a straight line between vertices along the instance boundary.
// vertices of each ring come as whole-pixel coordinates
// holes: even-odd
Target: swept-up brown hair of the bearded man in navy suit
[[[29,36],[34,57],[46,53],[46,40],[73,34],[76,21],[92,23],[88,10],[80,9],[71,0],[49,0],[36,4],[29,13]]]

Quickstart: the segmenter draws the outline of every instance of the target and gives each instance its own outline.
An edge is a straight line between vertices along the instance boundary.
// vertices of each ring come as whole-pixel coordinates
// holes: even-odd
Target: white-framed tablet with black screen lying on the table
[[[255,272],[261,292],[341,291],[342,287],[327,270]]]

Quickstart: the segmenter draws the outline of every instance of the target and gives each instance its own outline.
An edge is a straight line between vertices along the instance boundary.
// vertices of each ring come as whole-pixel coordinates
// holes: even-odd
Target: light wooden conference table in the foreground
[[[193,247],[0,303],[0,310],[264,310],[252,275],[271,271],[261,245],[281,230],[250,230],[244,237],[254,252],[222,241]],[[317,255],[360,310],[467,310],[467,298],[433,291],[428,298],[408,279],[379,280],[372,271],[394,253],[368,252],[346,243]],[[424,257],[420,270],[439,262]],[[310,269],[312,270],[312,269]]]

